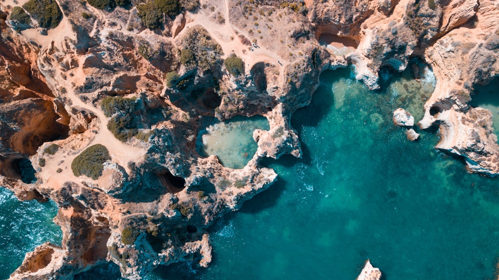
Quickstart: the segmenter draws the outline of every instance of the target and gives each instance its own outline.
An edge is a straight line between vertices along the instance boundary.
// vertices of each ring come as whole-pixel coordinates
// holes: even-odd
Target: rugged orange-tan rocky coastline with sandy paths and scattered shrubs
[[[419,128],[439,126],[436,148],[497,175],[492,113],[468,103],[498,76],[498,18],[494,0],[1,2],[0,185],[54,201],[63,232],[10,279],[207,267],[208,227],[277,179],[261,159],[302,155],[291,115],[349,64],[376,90],[380,69],[420,79],[409,60],[426,61],[437,85]],[[238,115],[269,123],[249,163],[201,156],[203,118]]]

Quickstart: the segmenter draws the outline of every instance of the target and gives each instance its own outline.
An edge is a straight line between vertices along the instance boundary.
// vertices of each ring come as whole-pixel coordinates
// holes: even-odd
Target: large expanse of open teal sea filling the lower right
[[[418,121],[432,77],[388,74],[370,92],[350,69],[324,73],[291,122],[303,158],[262,162],[278,181],[210,229],[212,265],[160,267],[147,279],[354,280],[367,258],[385,280],[494,279],[497,179],[436,151],[435,132],[406,140],[392,112],[404,107]],[[119,273],[103,266],[77,279],[90,278]]]

